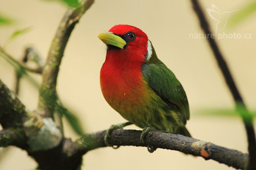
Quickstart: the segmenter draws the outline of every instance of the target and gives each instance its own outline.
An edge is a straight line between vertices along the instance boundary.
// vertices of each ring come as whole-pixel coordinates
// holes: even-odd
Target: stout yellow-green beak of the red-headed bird
[[[125,40],[113,34],[112,32],[101,33],[98,35],[98,38],[102,40],[102,42],[104,42],[106,45],[114,45],[122,49],[124,49],[124,46],[126,45]]]

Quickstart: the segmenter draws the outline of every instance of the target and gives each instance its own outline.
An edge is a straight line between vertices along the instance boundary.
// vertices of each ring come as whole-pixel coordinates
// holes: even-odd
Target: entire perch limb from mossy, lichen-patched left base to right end
[[[81,162],[82,155],[90,150],[106,147],[104,143],[106,131],[84,135],[76,142],[64,138],[51,118],[41,119],[39,116],[29,115],[25,106],[1,81],[0,123],[5,128],[0,131],[0,147],[15,145],[23,148],[38,161],[41,167],[63,167],[66,164],[76,167]],[[206,160],[212,159],[237,169],[245,170],[247,167],[248,155],[237,150],[162,132],[149,132],[145,136],[145,143],[142,143],[140,134],[139,130],[113,130],[109,142],[119,146],[146,147],[149,145],[155,148],[177,150],[201,156]],[[58,164],[55,161],[49,164],[49,160],[54,158],[47,153],[52,153],[53,157],[59,157]],[[64,160],[65,164],[62,164],[61,160]]]

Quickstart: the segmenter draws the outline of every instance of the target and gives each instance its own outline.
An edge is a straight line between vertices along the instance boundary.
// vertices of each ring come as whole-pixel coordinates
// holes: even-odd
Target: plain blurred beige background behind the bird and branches
[[[228,27],[225,11],[244,8],[251,1],[204,0],[202,8],[215,32],[219,21],[227,26],[221,34],[251,34],[251,38],[217,40],[230,66],[235,81],[248,108],[256,108],[256,19],[247,17],[236,26]],[[212,6],[212,4],[214,6]],[[213,9],[213,10],[207,10]],[[0,26],[0,45],[5,45],[15,30],[31,27],[6,45],[6,51],[21,59],[24,49],[35,48],[45,60],[52,38],[67,6],[50,0],[0,0],[0,14],[14,19]],[[208,11],[208,12],[207,12]],[[215,11],[215,12],[214,12]],[[217,12],[216,12],[217,11]],[[210,12],[210,13],[209,13]],[[212,12],[212,13],[211,13]],[[225,23],[225,22],[224,22]],[[125,122],[102,96],[99,85],[100,68],[105,61],[105,44],[97,35],[116,24],[129,24],[148,34],[157,56],[175,73],[189,99],[191,118],[186,127],[192,136],[207,142],[247,152],[244,126],[238,116],[207,116],[204,109],[233,108],[233,100],[209,48],[190,1],[170,0],[95,0],[73,30],[65,50],[58,77],[57,90],[64,105],[76,113],[87,133],[105,130],[110,125]],[[194,37],[191,37],[193,34]],[[190,37],[189,37],[190,35]],[[0,79],[11,89],[15,84],[15,69],[0,57]],[[30,74],[38,82],[39,75]],[[38,89],[26,78],[20,82],[20,100],[34,110],[38,104]],[[126,129],[140,129],[134,125]],[[66,137],[79,138],[64,119]],[[16,147],[0,149],[0,170],[30,170],[36,162]],[[157,149],[148,153],[145,147],[100,148],[84,155],[85,170],[131,169],[229,170],[216,161],[183,153]]]

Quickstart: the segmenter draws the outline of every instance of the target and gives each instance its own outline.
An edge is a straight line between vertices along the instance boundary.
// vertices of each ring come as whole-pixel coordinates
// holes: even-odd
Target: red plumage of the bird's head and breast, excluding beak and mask
[[[123,36],[133,31],[137,39],[128,42],[123,50],[108,48],[105,62],[100,72],[102,94],[115,109],[126,111],[134,102],[140,103],[146,92],[142,76],[142,65],[147,54],[147,35],[139,28],[128,25],[117,25],[109,30],[113,34]],[[115,108],[119,107],[119,108]]]

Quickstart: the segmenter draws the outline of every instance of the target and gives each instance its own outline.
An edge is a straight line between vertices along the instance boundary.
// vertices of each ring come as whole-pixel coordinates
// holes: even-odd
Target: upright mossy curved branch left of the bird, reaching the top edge
[[[58,71],[67,41],[76,23],[93,2],[94,0],[87,0],[80,8],[68,9],[52,40],[47,62],[43,68],[43,81],[39,97],[39,109],[44,117],[52,117],[55,108]]]

